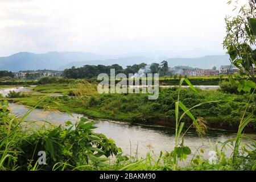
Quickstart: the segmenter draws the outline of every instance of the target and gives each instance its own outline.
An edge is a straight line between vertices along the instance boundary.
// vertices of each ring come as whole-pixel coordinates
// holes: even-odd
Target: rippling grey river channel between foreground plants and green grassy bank
[[[17,117],[22,117],[29,110],[29,107],[18,104],[9,104],[11,113]],[[73,117],[67,113],[60,111],[48,111],[35,109],[26,118],[27,121],[48,121],[53,125],[64,125],[66,121],[77,122],[81,114],[73,113]],[[43,122],[42,122],[43,123]],[[121,147],[123,152],[128,155],[135,155],[138,151],[138,156],[146,156],[148,151],[158,155],[160,151],[171,151],[174,147],[174,129],[167,127],[130,125],[129,123],[121,123],[115,121],[95,120],[97,126],[94,131],[96,133],[105,134],[106,137],[115,140],[118,147]],[[247,134],[249,137],[256,138],[255,134]],[[209,131],[204,138],[200,138],[193,131],[189,131],[184,138],[184,144],[189,146],[192,154],[196,154],[200,148],[205,150],[204,158],[209,158],[209,151],[212,150],[216,142],[224,142],[230,138],[235,138],[235,133]],[[138,150],[137,150],[138,147]],[[228,155],[231,153],[227,151]],[[190,156],[192,158],[192,156]]]

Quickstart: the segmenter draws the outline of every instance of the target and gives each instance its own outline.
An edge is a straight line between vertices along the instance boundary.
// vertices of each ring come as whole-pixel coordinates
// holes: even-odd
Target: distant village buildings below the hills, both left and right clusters
[[[218,75],[228,75],[229,73],[236,73],[239,69],[230,65],[222,65],[219,69],[213,67],[212,69],[201,69],[192,68],[187,66],[176,66],[174,68],[169,68],[171,75],[181,75],[181,76],[218,76]],[[38,70],[38,71],[19,71],[14,73],[16,78],[40,78],[40,77],[61,77],[61,71],[53,70]]]

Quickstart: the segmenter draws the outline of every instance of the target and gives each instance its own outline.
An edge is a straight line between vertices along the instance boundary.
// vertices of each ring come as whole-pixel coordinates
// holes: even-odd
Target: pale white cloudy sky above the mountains
[[[222,50],[226,0],[0,0],[0,56]]]

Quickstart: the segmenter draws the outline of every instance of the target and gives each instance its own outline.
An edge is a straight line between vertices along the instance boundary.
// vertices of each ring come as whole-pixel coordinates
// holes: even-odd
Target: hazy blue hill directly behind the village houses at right
[[[228,55],[212,55],[198,58],[171,58],[167,59],[169,67],[185,65],[193,68],[220,68],[221,65],[230,65]]]

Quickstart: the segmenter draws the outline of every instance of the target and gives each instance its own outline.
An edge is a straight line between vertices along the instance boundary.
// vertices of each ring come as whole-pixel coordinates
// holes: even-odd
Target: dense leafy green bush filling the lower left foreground
[[[0,170],[92,170],[109,166],[108,157],[115,155],[118,159],[122,152],[114,140],[93,133],[94,123],[88,119],[81,118],[75,124],[66,122],[66,127],[24,129],[29,122],[23,125],[11,116],[7,102],[0,102],[0,107]],[[47,165],[36,164],[39,151],[46,152]]]

